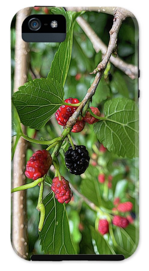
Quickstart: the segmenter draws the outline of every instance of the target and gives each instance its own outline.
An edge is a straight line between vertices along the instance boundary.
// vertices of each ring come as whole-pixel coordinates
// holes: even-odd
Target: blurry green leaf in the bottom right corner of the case
[[[138,230],[133,225],[129,225],[125,229],[116,227],[114,236],[118,245],[115,248],[117,254],[123,254],[125,258],[130,257],[138,245]]]

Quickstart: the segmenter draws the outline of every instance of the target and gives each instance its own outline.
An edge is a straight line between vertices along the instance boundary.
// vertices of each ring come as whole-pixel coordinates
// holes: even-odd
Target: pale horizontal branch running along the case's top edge
[[[117,7],[66,7],[67,11],[96,11],[98,13],[107,13],[110,15],[114,15],[117,10],[119,10],[125,17],[135,16],[125,8],[117,8]]]

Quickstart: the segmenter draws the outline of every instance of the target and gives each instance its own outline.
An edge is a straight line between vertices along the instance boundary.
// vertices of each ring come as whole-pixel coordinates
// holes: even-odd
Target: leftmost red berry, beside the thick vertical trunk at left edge
[[[52,158],[48,151],[36,151],[27,161],[25,175],[29,179],[43,177],[52,164]]]

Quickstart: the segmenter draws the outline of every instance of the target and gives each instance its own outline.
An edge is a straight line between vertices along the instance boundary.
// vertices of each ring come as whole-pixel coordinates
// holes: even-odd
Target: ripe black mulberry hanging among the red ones
[[[75,150],[70,146],[65,152],[65,164],[70,173],[81,175],[88,168],[90,157],[85,146],[74,145],[74,147]]]

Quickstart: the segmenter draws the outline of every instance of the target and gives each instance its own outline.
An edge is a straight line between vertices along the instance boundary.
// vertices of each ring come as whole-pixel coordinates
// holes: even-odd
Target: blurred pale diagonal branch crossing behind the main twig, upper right
[[[90,41],[92,42],[92,45],[98,53],[101,51],[103,55],[105,55],[107,51],[107,46],[104,44],[104,42],[97,36],[95,31],[92,29],[92,27],[86,22],[86,20],[82,17],[76,18],[77,23],[79,26],[81,26],[82,30],[85,32],[85,34],[88,36]],[[113,57],[111,55],[110,62],[117,67],[118,69],[122,70],[126,75],[128,75],[131,79],[138,78],[138,67],[127,64],[125,61],[123,61],[121,58]]]

